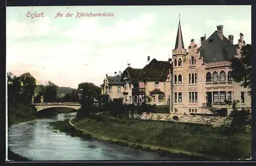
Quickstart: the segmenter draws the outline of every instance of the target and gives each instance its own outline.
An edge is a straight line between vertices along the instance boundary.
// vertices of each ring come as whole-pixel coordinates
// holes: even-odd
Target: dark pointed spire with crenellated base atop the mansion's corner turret
[[[179,56],[179,57],[182,57],[182,59],[183,59],[183,56],[186,55],[186,50],[184,48],[182,32],[181,32],[180,14],[179,14],[179,26],[178,26],[178,32],[177,32],[177,37],[176,37],[175,48],[172,53],[173,53],[174,58]]]

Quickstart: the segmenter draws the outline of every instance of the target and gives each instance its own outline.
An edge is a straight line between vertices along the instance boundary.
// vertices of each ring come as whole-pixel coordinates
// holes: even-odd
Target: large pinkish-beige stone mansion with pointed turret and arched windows
[[[201,37],[201,46],[191,39],[186,50],[183,44],[179,21],[173,55],[173,100],[170,113],[214,113],[224,111],[228,115],[232,109],[225,101],[239,100],[238,108],[251,108],[248,90],[233,82],[231,62],[240,57],[240,49],[245,44],[240,33],[238,44],[233,44],[233,36],[223,35],[223,26],[207,39]]]

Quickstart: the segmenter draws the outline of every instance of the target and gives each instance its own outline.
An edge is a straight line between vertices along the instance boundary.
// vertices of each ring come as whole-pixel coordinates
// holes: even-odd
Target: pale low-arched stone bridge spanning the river
[[[41,111],[46,108],[56,108],[56,107],[65,107],[65,108],[72,108],[72,109],[79,109],[81,108],[80,103],[74,102],[65,102],[65,103],[33,103],[37,112]]]

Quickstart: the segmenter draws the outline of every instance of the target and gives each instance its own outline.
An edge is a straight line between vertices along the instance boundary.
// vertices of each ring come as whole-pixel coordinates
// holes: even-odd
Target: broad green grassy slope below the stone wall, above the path
[[[84,118],[74,123],[97,138],[123,140],[176,152],[224,159],[250,158],[251,132],[232,134],[228,128],[197,124],[138,121],[109,117]]]

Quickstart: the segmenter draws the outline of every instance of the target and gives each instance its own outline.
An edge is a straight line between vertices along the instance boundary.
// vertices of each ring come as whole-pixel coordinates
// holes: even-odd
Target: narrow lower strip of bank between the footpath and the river
[[[79,123],[79,122],[78,122]],[[97,122],[94,122],[97,125]],[[75,123],[77,125],[77,123]],[[96,138],[99,140],[104,140],[109,143],[113,144],[118,144],[122,146],[129,146],[133,147],[136,149],[141,149],[144,151],[151,151],[151,152],[157,152],[160,155],[169,155],[172,157],[178,157],[178,158],[184,158],[187,160],[221,160],[223,157],[218,157],[218,156],[212,156],[212,155],[207,155],[207,154],[200,154],[197,152],[189,152],[185,150],[177,150],[174,148],[168,148],[168,147],[163,147],[159,146],[157,144],[142,144],[142,143],[136,143],[135,141],[128,141],[127,139],[120,139],[116,135],[115,137],[108,135],[107,133],[105,134],[100,134],[97,132],[97,130],[85,130],[83,128],[78,128],[76,126],[72,126],[73,124],[70,123],[68,120],[66,121],[58,121],[58,122],[53,122],[51,125],[54,126],[54,129],[59,130],[61,132],[66,132],[70,134],[71,136],[78,136],[84,139],[90,139],[90,138]],[[91,126],[91,125],[89,125]],[[98,126],[98,125],[97,125]],[[92,127],[92,126],[91,126]],[[100,128],[98,126],[98,128]],[[94,127],[95,129],[95,127]]]

